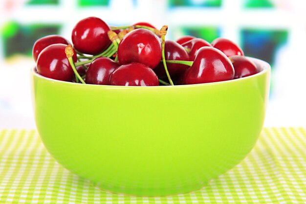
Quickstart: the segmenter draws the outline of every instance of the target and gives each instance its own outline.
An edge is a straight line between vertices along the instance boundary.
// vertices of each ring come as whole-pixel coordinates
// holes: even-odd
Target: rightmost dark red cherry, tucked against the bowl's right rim
[[[244,56],[234,55],[229,57],[235,69],[234,79],[258,73],[256,65]]]

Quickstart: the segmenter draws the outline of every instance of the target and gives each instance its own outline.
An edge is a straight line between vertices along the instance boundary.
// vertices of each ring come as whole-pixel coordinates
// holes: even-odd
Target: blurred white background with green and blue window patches
[[[35,128],[29,70],[45,35],[71,41],[96,16],[109,25],[169,25],[166,36],[225,37],[272,66],[265,126],[306,125],[306,0],[0,0],[0,128]]]

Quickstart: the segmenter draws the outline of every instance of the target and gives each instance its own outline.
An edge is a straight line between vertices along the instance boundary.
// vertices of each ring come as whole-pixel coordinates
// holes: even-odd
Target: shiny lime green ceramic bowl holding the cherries
[[[103,190],[165,196],[202,188],[238,164],[262,130],[270,66],[230,81],[159,87],[83,85],[31,72],[49,153]]]

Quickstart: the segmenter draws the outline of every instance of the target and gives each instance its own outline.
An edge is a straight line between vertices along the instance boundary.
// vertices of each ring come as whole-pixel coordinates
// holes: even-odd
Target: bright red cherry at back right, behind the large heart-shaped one
[[[227,57],[233,55],[244,55],[240,46],[226,38],[217,38],[212,42],[212,45],[221,50]]]

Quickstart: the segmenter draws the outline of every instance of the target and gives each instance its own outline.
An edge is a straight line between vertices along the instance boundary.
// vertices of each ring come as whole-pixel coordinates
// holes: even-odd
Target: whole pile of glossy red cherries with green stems
[[[72,30],[72,45],[58,35],[33,46],[37,72],[83,84],[116,86],[187,85],[219,82],[259,72],[230,40],[211,44],[193,36],[165,41],[168,26],[150,23],[109,26],[89,17]]]

